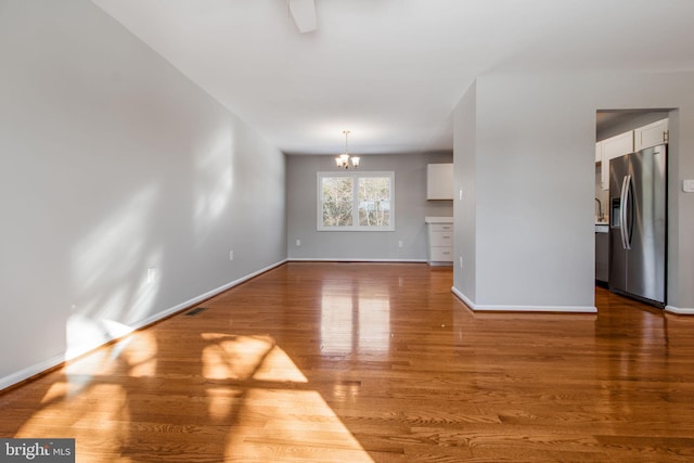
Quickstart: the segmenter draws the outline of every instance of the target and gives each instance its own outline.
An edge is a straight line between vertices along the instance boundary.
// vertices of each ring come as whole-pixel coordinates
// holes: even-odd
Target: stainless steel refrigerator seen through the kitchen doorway
[[[609,162],[609,290],[666,304],[667,144]]]

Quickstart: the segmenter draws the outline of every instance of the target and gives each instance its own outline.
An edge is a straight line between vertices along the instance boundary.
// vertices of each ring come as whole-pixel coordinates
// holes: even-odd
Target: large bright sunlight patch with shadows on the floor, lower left
[[[202,389],[187,387],[197,376],[157,371],[156,336],[133,333],[64,369],[14,437],[75,438],[89,463],[167,461],[180,449],[219,462],[373,462],[272,337],[201,340],[198,360],[182,361],[201,363]]]

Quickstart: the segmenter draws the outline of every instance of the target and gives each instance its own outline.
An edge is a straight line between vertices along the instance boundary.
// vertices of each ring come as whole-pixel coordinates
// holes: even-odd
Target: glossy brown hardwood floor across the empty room
[[[694,319],[475,313],[452,270],[292,262],[0,395],[78,462],[694,460]],[[38,340],[37,340],[38,342]]]

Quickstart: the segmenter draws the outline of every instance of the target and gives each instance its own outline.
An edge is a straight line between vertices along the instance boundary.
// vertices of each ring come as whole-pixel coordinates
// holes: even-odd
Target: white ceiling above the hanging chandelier
[[[450,150],[474,79],[694,70],[692,0],[92,0],[290,154]]]

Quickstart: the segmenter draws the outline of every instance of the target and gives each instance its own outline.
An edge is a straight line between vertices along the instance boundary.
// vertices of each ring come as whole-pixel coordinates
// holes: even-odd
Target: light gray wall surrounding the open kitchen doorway
[[[477,308],[581,310],[594,306],[594,142],[600,108],[671,113],[669,304],[694,307],[694,74],[499,73],[477,79]],[[459,103],[457,115],[470,95]],[[457,130],[470,120],[455,120]],[[454,158],[468,156],[457,144]],[[459,179],[462,180],[462,179]],[[472,240],[472,243],[470,241]],[[464,260],[466,259],[463,256]],[[457,269],[457,273],[459,270]],[[690,282],[687,284],[687,282]],[[474,297],[474,298],[473,298]]]

